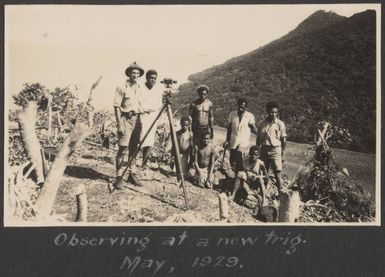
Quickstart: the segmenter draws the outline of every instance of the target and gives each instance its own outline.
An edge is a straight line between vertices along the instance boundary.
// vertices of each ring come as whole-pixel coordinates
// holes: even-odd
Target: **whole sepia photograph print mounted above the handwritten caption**
[[[379,226],[381,5],[5,5],[4,226]]]

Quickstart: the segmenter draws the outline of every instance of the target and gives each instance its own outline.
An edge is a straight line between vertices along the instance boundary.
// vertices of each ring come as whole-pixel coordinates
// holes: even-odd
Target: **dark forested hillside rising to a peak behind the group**
[[[375,151],[374,11],[349,18],[317,11],[284,37],[189,80],[181,85],[175,106],[196,98],[199,84],[209,85],[216,125],[225,126],[240,97],[249,100],[257,120],[264,117],[265,104],[275,99],[290,140],[309,142],[314,124],[327,120],[352,134],[353,142],[343,147]]]

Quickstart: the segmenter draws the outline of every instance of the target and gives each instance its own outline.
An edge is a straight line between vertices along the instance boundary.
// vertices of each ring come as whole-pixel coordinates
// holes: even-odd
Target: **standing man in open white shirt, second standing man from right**
[[[224,147],[230,149],[230,164],[235,173],[242,170],[243,156],[249,148],[251,131],[257,134],[254,115],[247,109],[247,100],[238,100],[238,110],[229,115]]]

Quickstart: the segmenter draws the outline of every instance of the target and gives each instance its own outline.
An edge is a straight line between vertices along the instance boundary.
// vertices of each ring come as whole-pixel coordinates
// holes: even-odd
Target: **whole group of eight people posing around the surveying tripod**
[[[126,69],[126,75],[128,79],[123,86],[117,87],[114,101],[119,144],[116,155],[117,176],[122,167],[123,152],[128,147],[129,159],[133,158],[139,142],[143,140],[163,106],[163,89],[156,84],[155,70],[146,72],[143,84],[139,82],[139,78],[144,75],[144,70],[135,62]],[[185,177],[190,177],[190,168],[194,168],[193,182],[211,188],[216,183],[213,171],[218,154],[217,147],[212,142],[214,108],[208,99],[208,86],[199,86],[197,93],[198,99],[190,104],[189,116],[181,118],[181,128],[177,131],[181,170]],[[240,98],[237,109],[230,113],[226,141],[223,144],[223,147],[230,151],[230,165],[235,173],[230,194],[232,199],[239,188],[256,182],[260,184],[264,196],[270,169],[275,175],[278,192],[282,187],[282,160],[287,135],[284,122],[278,119],[278,104],[274,101],[267,103],[267,116],[258,126],[254,115],[247,111],[247,104],[246,99]],[[154,145],[155,131],[156,125],[142,143],[143,167],[146,167],[151,147]],[[251,132],[256,134],[257,139],[255,145],[250,147]],[[134,166],[135,162],[132,165]],[[131,168],[128,180],[140,186],[134,171]],[[180,169],[178,171],[180,172]],[[120,189],[122,183],[115,186]]]

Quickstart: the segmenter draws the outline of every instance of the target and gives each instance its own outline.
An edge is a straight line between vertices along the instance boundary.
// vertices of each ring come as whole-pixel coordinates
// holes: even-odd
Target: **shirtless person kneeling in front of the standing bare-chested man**
[[[211,134],[206,132],[194,147],[195,185],[212,188],[217,183],[214,178],[216,156],[217,151],[211,142]]]

